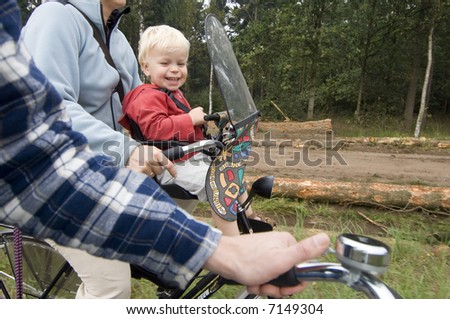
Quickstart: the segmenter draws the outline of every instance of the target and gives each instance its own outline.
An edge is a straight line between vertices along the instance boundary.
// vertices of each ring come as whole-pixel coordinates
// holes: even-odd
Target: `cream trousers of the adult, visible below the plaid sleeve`
[[[131,296],[131,270],[128,263],[95,257],[87,252],[64,247],[51,240],[55,248],[72,266],[82,283],[77,299],[129,299]]]

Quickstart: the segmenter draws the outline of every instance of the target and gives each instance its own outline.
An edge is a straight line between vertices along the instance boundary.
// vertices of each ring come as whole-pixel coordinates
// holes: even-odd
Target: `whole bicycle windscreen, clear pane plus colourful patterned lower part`
[[[233,139],[211,163],[205,189],[214,212],[232,221],[243,212],[239,197],[245,192],[244,171],[251,154],[259,112],[225,29],[214,15],[206,17],[205,35],[217,83],[233,126]]]

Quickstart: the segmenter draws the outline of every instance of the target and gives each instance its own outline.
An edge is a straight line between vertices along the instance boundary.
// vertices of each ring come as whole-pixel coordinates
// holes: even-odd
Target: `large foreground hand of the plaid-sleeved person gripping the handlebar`
[[[329,245],[330,238],[325,233],[300,242],[286,232],[223,236],[204,267],[247,285],[249,293],[280,298],[302,291],[307,283],[277,287],[267,282],[299,263],[321,256]]]

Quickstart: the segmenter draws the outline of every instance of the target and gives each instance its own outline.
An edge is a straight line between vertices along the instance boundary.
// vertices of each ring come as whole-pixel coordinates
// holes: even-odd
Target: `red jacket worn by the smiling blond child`
[[[180,90],[173,92],[177,100],[191,109]],[[195,142],[204,139],[201,126],[193,126],[191,117],[153,84],[142,84],[130,91],[123,101],[119,123],[130,130],[128,118],[140,127],[148,140]]]

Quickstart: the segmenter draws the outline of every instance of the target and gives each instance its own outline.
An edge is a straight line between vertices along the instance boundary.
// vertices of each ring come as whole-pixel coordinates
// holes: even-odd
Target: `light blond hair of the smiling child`
[[[141,65],[145,63],[147,53],[153,48],[169,52],[186,50],[189,56],[190,43],[179,30],[168,25],[158,25],[148,27],[139,40],[138,60]]]

